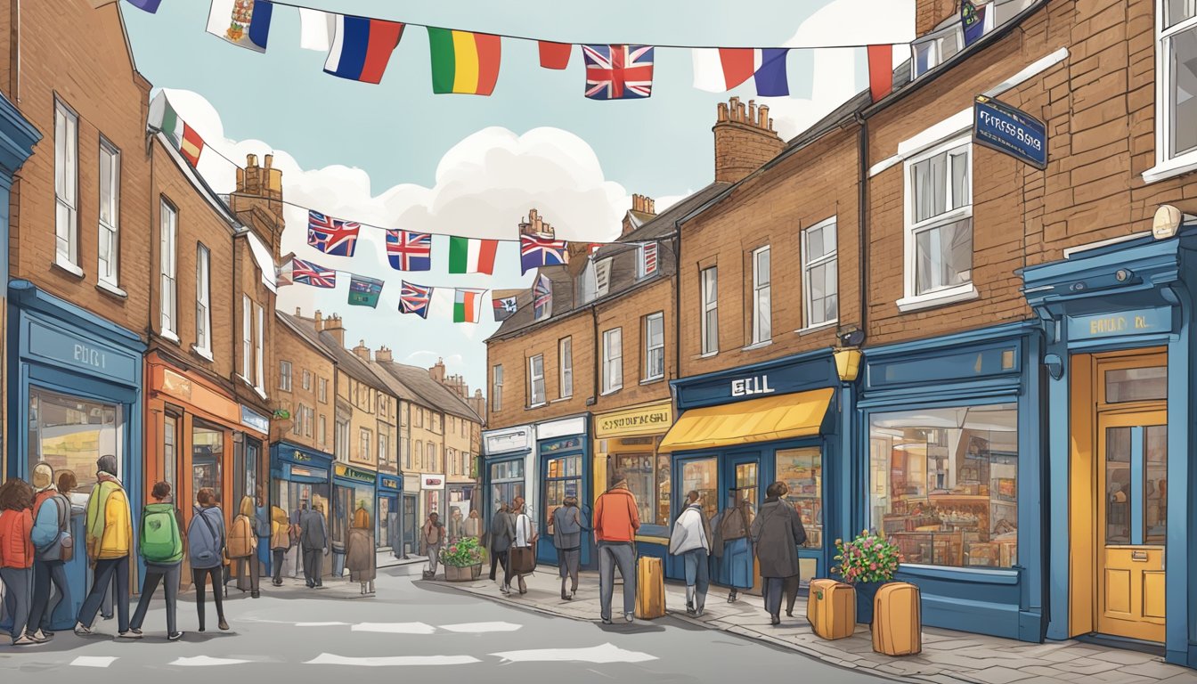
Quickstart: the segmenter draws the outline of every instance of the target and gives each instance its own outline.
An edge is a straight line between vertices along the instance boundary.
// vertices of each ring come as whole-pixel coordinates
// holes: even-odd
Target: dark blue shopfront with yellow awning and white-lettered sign
[[[827,576],[852,501],[845,436],[859,357],[827,349],[674,381],[682,413],[660,447],[672,454],[669,520],[689,491],[713,517],[741,502],[757,510],[768,484],[785,482],[807,531],[802,581]],[[643,545],[640,553],[666,551]],[[666,574],[681,579],[681,563],[668,557]]]

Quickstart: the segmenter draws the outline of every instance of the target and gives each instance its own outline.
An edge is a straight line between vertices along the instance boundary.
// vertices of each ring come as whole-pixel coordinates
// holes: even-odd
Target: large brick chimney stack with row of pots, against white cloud
[[[785,149],[785,141],[773,131],[768,105],[748,105],[739,97],[721,102],[716,108],[715,180],[734,183],[762,167]]]

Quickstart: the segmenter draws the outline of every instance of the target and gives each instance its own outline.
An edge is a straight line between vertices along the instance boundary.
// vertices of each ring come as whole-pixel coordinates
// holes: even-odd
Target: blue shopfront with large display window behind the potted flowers
[[[924,624],[1041,640],[1040,353],[1032,323],[865,352],[853,529],[898,545]]]

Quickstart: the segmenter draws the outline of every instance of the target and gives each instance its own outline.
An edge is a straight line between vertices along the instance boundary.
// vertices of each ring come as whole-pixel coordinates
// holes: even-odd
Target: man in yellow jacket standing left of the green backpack
[[[133,543],[133,515],[124,486],[116,478],[116,456],[105,454],[96,461],[96,486],[87,500],[87,558],[92,563],[91,592],[79,609],[74,631],[91,634],[104,592],[116,582],[117,636],[129,638],[129,551]]]

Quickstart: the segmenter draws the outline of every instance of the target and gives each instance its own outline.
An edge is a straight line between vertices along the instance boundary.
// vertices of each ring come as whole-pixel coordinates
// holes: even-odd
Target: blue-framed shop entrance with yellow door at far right
[[[1197,666],[1197,225],[1026,268],[1046,339],[1050,638]]]

